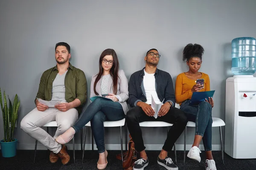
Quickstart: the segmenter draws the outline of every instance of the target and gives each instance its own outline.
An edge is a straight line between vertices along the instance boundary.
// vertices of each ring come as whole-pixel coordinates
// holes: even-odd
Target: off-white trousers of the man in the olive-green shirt
[[[61,144],[58,144],[55,139],[73,126],[77,119],[78,111],[75,108],[66,112],[56,108],[48,108],[42,112],[35,108],[21,120],[20,128],[52,152],[58,153],[61,150]],[[51,121],[56,121],[58,126],[54,137],[41,128]]]

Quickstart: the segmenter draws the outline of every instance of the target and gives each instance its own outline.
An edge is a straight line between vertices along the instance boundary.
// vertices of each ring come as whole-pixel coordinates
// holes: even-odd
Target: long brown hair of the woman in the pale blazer
[[[114,63],[113,63],[112,68],[110,69],[110,75],[111,75],[111,78],[113,80],[113,93],[116,95],[116,93],[117,93],[117,83],[118,83],[118,77],[119,77],[118,76],[119,62],[118,62],[118,58],[117,58],[117,55],[116,55],[116,51],[114,51],[113,49],[110,49],[110,48],[105,49],[99,57],[99,73],[96,75],[97,77],[96,77],[94,85],[93,85],[93,90],[94,90],[94,93],[96,95],[99,95],[96,91],[96,84],[99,82],[99,79],[102,77],[102,74],[103,74],[102,59],[106,55],[112,55],[113,56]]]

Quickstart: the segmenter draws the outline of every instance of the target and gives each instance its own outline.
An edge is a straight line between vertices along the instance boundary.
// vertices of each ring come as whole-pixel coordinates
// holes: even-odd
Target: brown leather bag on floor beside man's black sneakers
[[[131,135],[129,135],[131,138]],[[116,159],[122,160],[121,153],[116,155]],[[124,170],[132,170],[134,162],[137,161],[136,151],[134,147],[134,142],[131,140],[128,143],[128,151],[123,153],[123,168]]]

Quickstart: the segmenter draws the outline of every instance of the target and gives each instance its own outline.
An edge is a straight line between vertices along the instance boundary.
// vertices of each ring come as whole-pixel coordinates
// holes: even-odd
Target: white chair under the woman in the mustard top
[[[176,108],[180,108],[180,105],[177,103],[175,104]],[[217,117],[212,118],[212,127],[219,127],[220,128],[220,138],[221,138],[221,155],[222,155],[222,162],[224,164],[224,153],[223,153],[223,141],[222,141],[222,133],[221,133],[221,126],[225,126],[225,122]],[[187,127],[195,127],[195,122],[188,122],[186,125]],[[184,133],[184,160],[183,163],[185,163],[186,159],[186,128],[185,128],[185,133]]]

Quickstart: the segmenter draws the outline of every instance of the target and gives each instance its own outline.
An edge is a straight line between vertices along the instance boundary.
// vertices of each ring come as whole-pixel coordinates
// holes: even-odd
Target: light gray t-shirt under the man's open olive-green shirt
[[[52,82],[52,99],[51,101],[60,101],[67,102],[65,99],[65,76],[67,71],[64,74],[57,74],[56,78]]]

